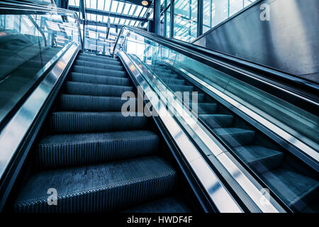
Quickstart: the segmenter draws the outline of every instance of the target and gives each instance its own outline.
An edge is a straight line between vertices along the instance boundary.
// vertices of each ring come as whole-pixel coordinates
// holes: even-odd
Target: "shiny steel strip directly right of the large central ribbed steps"
[[[142,74],[138,72],[136,68],[138,65],[135,64],[135,62],[130,61],[125,52],[119,52],[118,55],[121,57],[123,62],[125,62],[125,65],[128,66],[128,69],[131,70],[140,87],[142,87],[142,92],[145,92],[147,97],[154,96],[154,91],[145,81]],[[200,179],[201,184],[203,184],[204,189],[210,196],[213,203],[216,205],[218,211],[223,213],[243,212],[233,196],[230,195],[223,183],[220,182],[220,179],[218,179],[208,163],[198,153],[198,150],[191,140],[189,140],[186,133],[184,133],[184,131],[180,128],[177,121],[174,120],[172,114],[170,114],[166,109],[165,104],[158,99],[156,101],[157,102],[155,103],[154,99],[150,99],[150,103],[153,106],[153,111],[156,111],[158,116],[162,119],[164,126],[167,127],[169,133],[172,135],[172,138],[174,138],[175,142],[179,146],[179,149],[184,154],[184,157],[189,162],[189,165],[198,179]]]

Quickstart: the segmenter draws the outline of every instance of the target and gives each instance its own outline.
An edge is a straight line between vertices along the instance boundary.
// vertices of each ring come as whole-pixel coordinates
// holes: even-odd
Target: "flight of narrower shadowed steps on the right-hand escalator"
[[[291,209],[315,209],[318,175],[288,151],[267,138],[164,62],[154,70],[173,92],[198,92],[196,114],[233,152],[247,164]],[[181,99],[181,97],[180,97]],[[191,104],[184,103],[189,109]],[[313,203],[313,204],[312,204]]]

